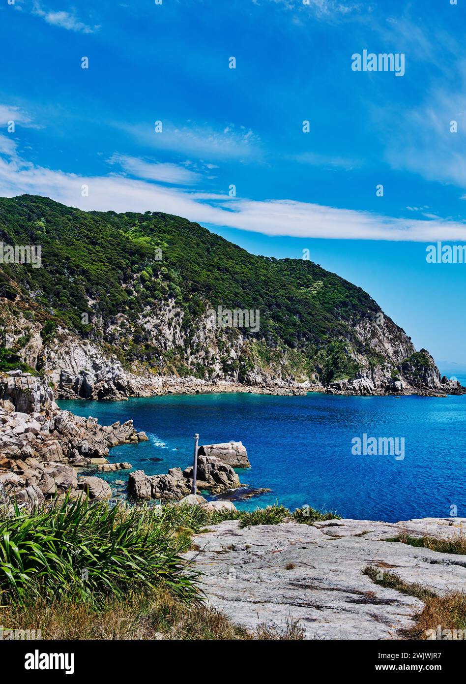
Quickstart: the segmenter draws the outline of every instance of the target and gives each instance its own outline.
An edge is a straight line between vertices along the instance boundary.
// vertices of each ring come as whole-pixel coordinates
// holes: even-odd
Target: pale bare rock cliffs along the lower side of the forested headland
[[[285,349],[276,352],[275,365],[273,360],[264,364],[259,354],[251,354],[252,345],[247,337],[238,331],[233,337],[222,336],[218,331],[215,335],[202,320],[198,321],[195,338],[196,342],[202,341],[202,352],[190,355],[193,341],[188,341],[188,333],[180,329],[179,319],[167,318],[166,312],[160,318],[152,312],[148,318],[141,319],[141,324],[146,326],[150,343],[163,343],[167,352],[187,345],[184,378],[178,373],[154,374],[140,362],[128,367],[114,347],[82,339],[61,326],[51,339],[44,341],[44,321],[26,319],[23,311],[7,300],[3,301],[1,315],[7,348],[16,351],[21,363],[38,370],[59,398],[121,400],[165,391],[210,391],[219,389],[219,385],[236,384],[278,392],[293,389],[351,394],[461,392],[458,382],[452,384],[447,378],[441,379],[428,352],[415,352],[405,332],[383,315],[379,322],[373,316],[360,319],[352,328],[350,339],[344,342],[343,354],[357,367],[353,377],[328,382],[321,380],[323,368],[318,362],[314,371],[296,371],[290,358],[292,352]],[[167,320],[172,321],[172,327]],[[27,342],[19,347],[25,332]],[[228,353],[228,363],[225,363],[225,353]],[[253,367],[245,373],[238,365],[238,358],[246,358],[248,354],[253,359]],[[195,377],[194,369],[202,364],[208,364],[205,377]],[[33,384],[33,376],[25,382]]]

